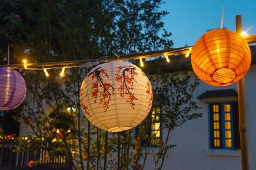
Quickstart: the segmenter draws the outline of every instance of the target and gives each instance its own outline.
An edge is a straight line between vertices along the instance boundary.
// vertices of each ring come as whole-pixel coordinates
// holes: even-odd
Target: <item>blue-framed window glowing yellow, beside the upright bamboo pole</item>
[[[237,102],[212,103],[210,110],[210,148],[234,150],[240,147]]]

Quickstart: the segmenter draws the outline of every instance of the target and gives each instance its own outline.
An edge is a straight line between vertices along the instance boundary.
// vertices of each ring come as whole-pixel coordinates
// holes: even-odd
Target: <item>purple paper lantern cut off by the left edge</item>
[[[0,111],[18,107],[26,97],[26,82],[10,68],[0,68]]]

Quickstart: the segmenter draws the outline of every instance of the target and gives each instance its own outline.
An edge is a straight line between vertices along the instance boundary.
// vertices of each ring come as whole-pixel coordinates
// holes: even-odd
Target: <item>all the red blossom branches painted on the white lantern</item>
[[[135,104],[134,100],[138,100],[132,93],[134,89],[134,83],[137,82],[135,77],[138,75],[136,72],[137,68],[134,66],[118,66],[118,70],[115,73],[115,81],[120,82],[120,86],[118,91],[120,91],[120,97],[127,96],[126,102],[128,102],[132,109],[134,109]],[[92,75],[92,79],[97,79],[96,82],[92,83],[92,97],[95,97],[94,102],[97,102],[97,97],[99,98],[100,104],[103,105],[105,111],[109,108],[109,101],[111,100],[111,95],[114,94],[115,88],[113,88],[113,84],[109,82],[104,82],[104,77],[109,77],[106,73],[105,69],[97,68],[92,73],[89,73],[88,76]],[[143,76],[146,76],[145,73],[142,72]],[[146,93],[148,99],[148,109],[150,109],[150,105],[152,105],[153,95],[152,95],[152,87],[150,86],[150,82],[147,81]],[[83,90],[80,91],[83,93]],[[81,104],[83,110],[86,114],[90,114],[85,105]]]

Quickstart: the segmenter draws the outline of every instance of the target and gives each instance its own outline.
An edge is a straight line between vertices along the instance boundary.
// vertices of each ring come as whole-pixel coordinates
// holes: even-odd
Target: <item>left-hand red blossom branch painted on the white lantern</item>
[[[92,97],[95,97],[94,102],[97,102],[97,98],[99,98],[100,103],[103,103],[103,107],[105,109],[105,112],[108,110],[109,101],[111,100],[111,95],[114,94],[115,88],[113,88],[113,84],[110,84],[109,82],[105,82],[104,77],[109,77],[106,73],[106,70],[102,69],[101,67],[95,69],[92,73],[90,73],[88,76],[92,75],[92,79],[96,79],[96,82],[92,83]],[[87,108],[84,110],[86,111]]]

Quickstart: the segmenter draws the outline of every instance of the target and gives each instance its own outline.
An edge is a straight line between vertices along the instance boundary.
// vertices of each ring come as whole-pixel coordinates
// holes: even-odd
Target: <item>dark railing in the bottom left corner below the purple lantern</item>
[[[46,151],[35,153],[34,151],[13,151],[13,143],[10,140],[0,140],[0,169],[1,170],[71,170],[72,164],[68,157],[58,156],[45,160]],[[30,161],[38,160],[35,166],[29,167]]]

